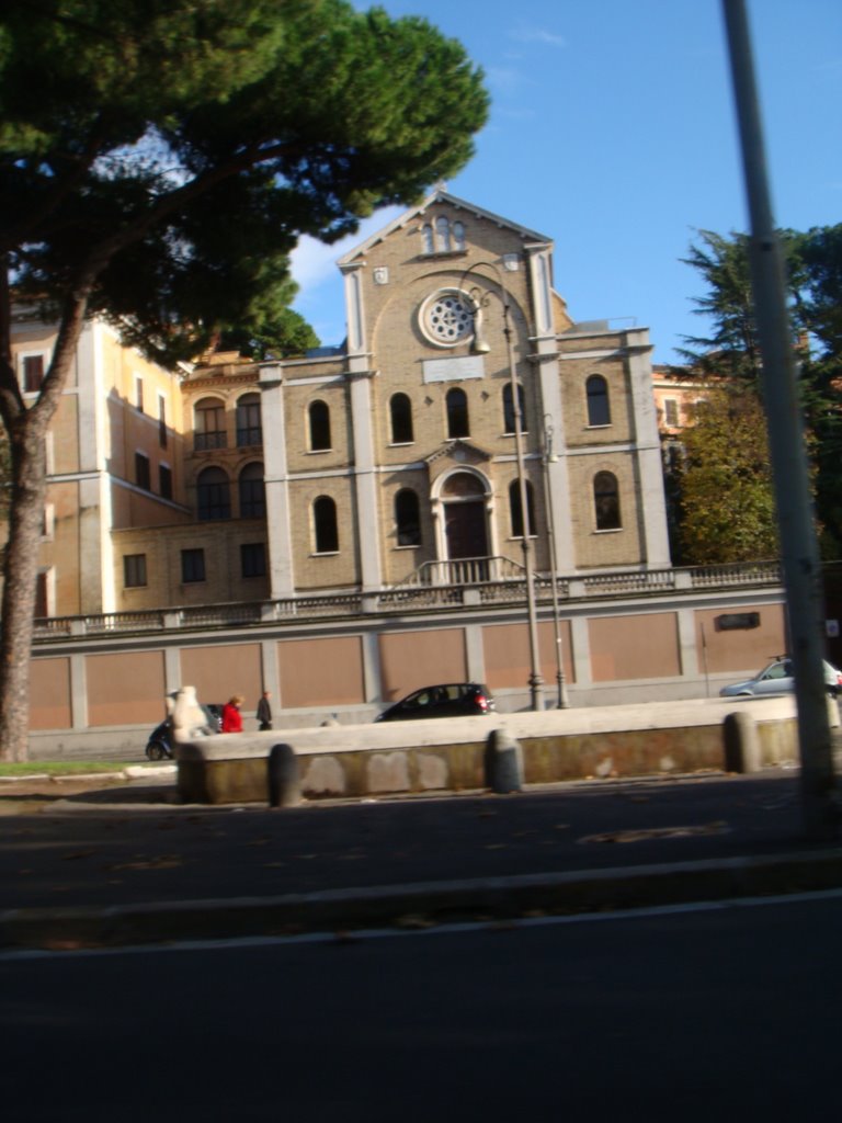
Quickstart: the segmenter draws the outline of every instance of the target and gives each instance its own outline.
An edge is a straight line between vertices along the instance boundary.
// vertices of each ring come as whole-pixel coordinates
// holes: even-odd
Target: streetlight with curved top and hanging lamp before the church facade
[[[531,700],[531,707],[533,710],[541,710],[543,707],[542,700],[542,687],[543,677],[541,675],[541,659],[538,648],[538,613],[536,610],[536,586],[534,586],[534,573],[532,564],[532,546],[529,540],[531,527],[529,524],[529,503],[527,496],[527,476],[523,471],[523,416],[521,413],[521,395],[520,386],[518,385],[518,372],[514,366],[514,346],[512,344],[512,328],[510,322],[510,303],[509,293],[506,286],[503,284],[503,275],[500,267],[494,264],[494,262],[475,262],[469,268],[465,270],[460,280],[459,289],[463,289],[466,277],[468,277],[474,270],[488,268],[494,273],[497,285],[500,286],[500,301],[503,305],[503,335],[506,341],[506,355],[509,359],[509,381],[512,387],[512,412],[514,414],[514,457],[518,467],[518,492],[520,495],[521,503],[521,549],[523,550],[523,569],[527,575],[527,614],[529,617],[529,661],[530,661],[530,674],[529,674],[529,694]],[[481,273],[479,276],[483,276]],[[488,277],[484,277],[488,281]],[[464,291],[464,290],[463,290]],[[491,300],[491,293],[487,290],[481,289],[475,285],[473,289],[468,290],[467,296],[470,301],[470,314],[474,320],[474,341],[472,344],[472,350],[476,355],[487,355],[491,350],[491,344],[481,335],[482,322],[483,322],[483,310],[488,307]]]

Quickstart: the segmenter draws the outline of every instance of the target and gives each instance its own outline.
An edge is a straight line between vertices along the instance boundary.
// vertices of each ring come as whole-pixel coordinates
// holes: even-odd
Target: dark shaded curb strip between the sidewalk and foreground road
[[[180,940],[348,934],[534,915],[612,912],[842,887],[842,848],[762,858],[525,874],[120,906],[0,912],[0,948],[80,950]]]

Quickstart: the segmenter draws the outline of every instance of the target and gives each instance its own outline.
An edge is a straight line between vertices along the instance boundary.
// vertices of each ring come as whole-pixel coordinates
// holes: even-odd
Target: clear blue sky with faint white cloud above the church
[[[364,8],[367,4],[357,3]],[[720,0],[383,0],[465,44],[492,95],[476,155],[448,191],[552,238],[576,320],[647,326],[655,360],[704,330],[681,264],[694,231],[748,227]],[[842,221],[842,3],[749,0],[779,226]],[[345,337],[337,258],[304,241],[295,307]]]

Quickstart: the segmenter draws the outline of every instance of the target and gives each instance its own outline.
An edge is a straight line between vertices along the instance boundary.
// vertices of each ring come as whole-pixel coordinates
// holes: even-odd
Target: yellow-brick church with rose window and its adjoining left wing
[[[88,326],[43,614],[482,583],[524,521],[539,572],[669,566],[648,331],[576,323],[549,238],[437,190],[339,267],[347,340],[296,359],[170,374]],[[51,329],[15,346],[26,385]]]

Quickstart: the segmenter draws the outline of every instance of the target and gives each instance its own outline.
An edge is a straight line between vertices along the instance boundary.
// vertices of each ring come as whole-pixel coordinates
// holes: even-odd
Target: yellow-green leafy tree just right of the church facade
[[[688,565],[777,557],[766,418],[750,386],[708,386],[684,433],[679,542]]]

